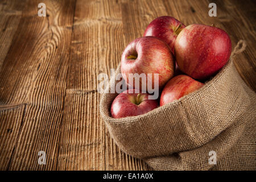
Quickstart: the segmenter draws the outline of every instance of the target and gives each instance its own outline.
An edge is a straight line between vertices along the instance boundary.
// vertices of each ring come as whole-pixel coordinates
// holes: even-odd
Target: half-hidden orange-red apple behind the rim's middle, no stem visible
[[[179,98],[200,89],[203,85],[203,83],[196,81],[187,75],[175,76],[167,82],[166,86],[164,86],[160,97],[160,106],[178,100]]]

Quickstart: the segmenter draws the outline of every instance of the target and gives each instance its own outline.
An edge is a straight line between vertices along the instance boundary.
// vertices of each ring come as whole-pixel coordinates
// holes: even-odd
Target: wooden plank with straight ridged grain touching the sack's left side
[[[97,76],[116,68],[123,44],[121,10],[115,1],[77,1],[69,61],[58,169],[137,169],[100,118]]]

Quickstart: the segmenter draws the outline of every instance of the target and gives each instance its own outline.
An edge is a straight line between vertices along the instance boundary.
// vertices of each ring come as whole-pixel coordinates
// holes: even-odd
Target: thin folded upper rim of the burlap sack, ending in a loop
[[[132,117],[125,117],[125,118],[112,118],[110,116],[110,110],[108,111],[104,111],[104,107],[103,107],[103,102],[105,100],[105,96],[106,94],[108,94],[108,92],[110,91],[110,85],[115,82],[115,80],[110,80],[104,94],[102,95],[101,97],[101,100],[100,100],[100,113],[101,113],[101,116],[102,118],[104,118],[104,120],[108,123],[113,123],[113,124],[121,124],[121,123],[132,123],[132,122],[137,122],[138,119],[142,119],[142,118],[146,118],[148,115],[152,114],[152,112],[154,111],[155,113],[159,113],[162,109],[167,109],[168,107],[170,106],[176,106],[176,105],[179,105],[181,104],[181,102],[186,102],[188,100],[189,97],[193,97],[195,96],[196,94],[198,94],[199,92],[202,92],[203,90],[208,90],[210,89],[210,86],[212,86],[214,84],[214,82],[218,81],[219,79],[221,79],[224,75],[225,75],[225,72],[226,70],[229,68],[229,66],[231,66],[233,64],[233,61],[232,61],[232,58],[234,56],[236,56],[238,53],[241,53],[245,50],[245,47],[246,47],[246,42],[245,40],[240,40],[236,47],[234,48],[232,54],[230,55],[230,59],[228,61],[228,63],[225,64],[225,66],[223,68],[221,68],[220,71],[218,71],[218,73],[210,78],[210,80],[208,80],[207,82],[205,82],[204,86],[202,86],[200,89],[196,90],[195,92],[192,92],[192,93],[189,93],[188,95],[186,96],[183,96],[181,97],[179,100],[175,100],[173,102],[170,102],[164,106],[159,106],[157,107],[156,109],[154,110],[151,110],[149,111],[148,113],[145,113],[145,114],[141,114],[141,115],[137,115],[137,116],[132,116]],[[117,71],[115,72],[115,76],[117,75],[117,72],[120,72],[120,64],[118,65],[117,67]],[[160,97],[160,96],[159,96]],[[108,113],[108,115],[106,115],[105,113]],[[129,120],[129,121],[128,121]]]

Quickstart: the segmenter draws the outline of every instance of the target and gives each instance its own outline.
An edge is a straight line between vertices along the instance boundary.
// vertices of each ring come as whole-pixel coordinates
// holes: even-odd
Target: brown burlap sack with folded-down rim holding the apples
[[[256,96],[232,61],[243,49],[240,41],[228,64],[201,89],[136,117],[111,117],[117,93],[110,86],[118,82],[112,78],[100,111],[114,142],[157,170],[255,170]]]

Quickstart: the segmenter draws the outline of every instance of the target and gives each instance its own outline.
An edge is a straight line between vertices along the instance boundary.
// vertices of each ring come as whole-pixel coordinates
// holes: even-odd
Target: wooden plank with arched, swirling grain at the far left
[[[5,86],[1,102],[27,104],[10,170],[56,169],[57,166],[75,3],[43,1],[47,17],[39,17],[40,2],[26,3],[19,32],[0,73],[0,85]],[[39,151],[46,152],[46,165],[38,164]]]

